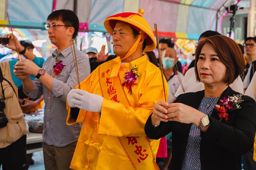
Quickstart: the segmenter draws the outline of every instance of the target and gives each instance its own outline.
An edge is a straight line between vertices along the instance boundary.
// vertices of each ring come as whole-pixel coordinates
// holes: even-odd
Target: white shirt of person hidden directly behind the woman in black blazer
[[[243,81],[240,78],[240,76],[238,76],[238,78],[229,86],[236,92],[239,92],[242,94],[244,93]],[[198,91],[204,90],[204,83],[196,81],[196,74],[195,74],[194,67],[190,68],[186,72],[184,76],[183,87],[184,87],[185,93],[198,92]],[[181,87],[179,87],[177,92],[174,94],[174,96],[178,97],[180,94],[183,94],[183,93],[184,92],[182,91]]]

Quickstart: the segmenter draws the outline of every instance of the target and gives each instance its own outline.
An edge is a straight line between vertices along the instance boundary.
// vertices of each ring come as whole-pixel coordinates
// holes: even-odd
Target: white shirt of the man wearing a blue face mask
[[[174,73],[173,73],[174,74]],[[179,72],[180,79],[182,83],[184,83],[184,76],[182,73]],[[168,88],[169,88],[169,97],[168,97],[168,103],[173,103],[173,101],[176,99],[174,94],[176,93],[177,89],[180,86],[180,82],[178,79],[178,75],[174,75],[168,82]]]

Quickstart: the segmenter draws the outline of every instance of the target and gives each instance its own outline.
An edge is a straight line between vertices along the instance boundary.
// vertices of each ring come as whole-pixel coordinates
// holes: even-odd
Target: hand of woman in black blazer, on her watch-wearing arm
[[[204,116],[204,113],[182,103],[169,104],[167,113],[168,121],[177,121],[187,124],[194,123],[196,126],[200,125],[201,118]]]

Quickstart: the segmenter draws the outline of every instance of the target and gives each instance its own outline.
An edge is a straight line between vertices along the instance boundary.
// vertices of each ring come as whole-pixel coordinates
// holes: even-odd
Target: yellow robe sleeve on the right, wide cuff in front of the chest
[[[146,78],[146,73],[150,73]],[[136,108],[125,107],[122,103],[104,98],[101,108],[99,135],[108,136],[145,136],[144,125],[151,115],[157,101],[164,99],[164,90],[160,70],[148,70],[140,79],[142,85],[138,92]],[[168,87],[164,78],[165,87]],[[168,101],[168,88],[165,90]],[[127,94],[128,100],[129,95]],[[132,94],[135,95],[135,94]],[[136,133],[137,132],[137,133]],[[139,133],[138,133],[139,132]]]

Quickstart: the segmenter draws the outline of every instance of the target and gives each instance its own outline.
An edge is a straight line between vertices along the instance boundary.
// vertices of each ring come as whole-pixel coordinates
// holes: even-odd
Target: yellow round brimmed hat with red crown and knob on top
[[[116,26],[117,21],[122,21],[135,28],[138,32],[142,30],[147,41],[147,46],[144,51],[153,51],[156,49],[156,40],[151,27],[148,22],[142,18],[144,9],[140,8],[138,13],[124,12],[110,16],[105,19],[104,26],[108,33],[113,36],[113,29]]]

